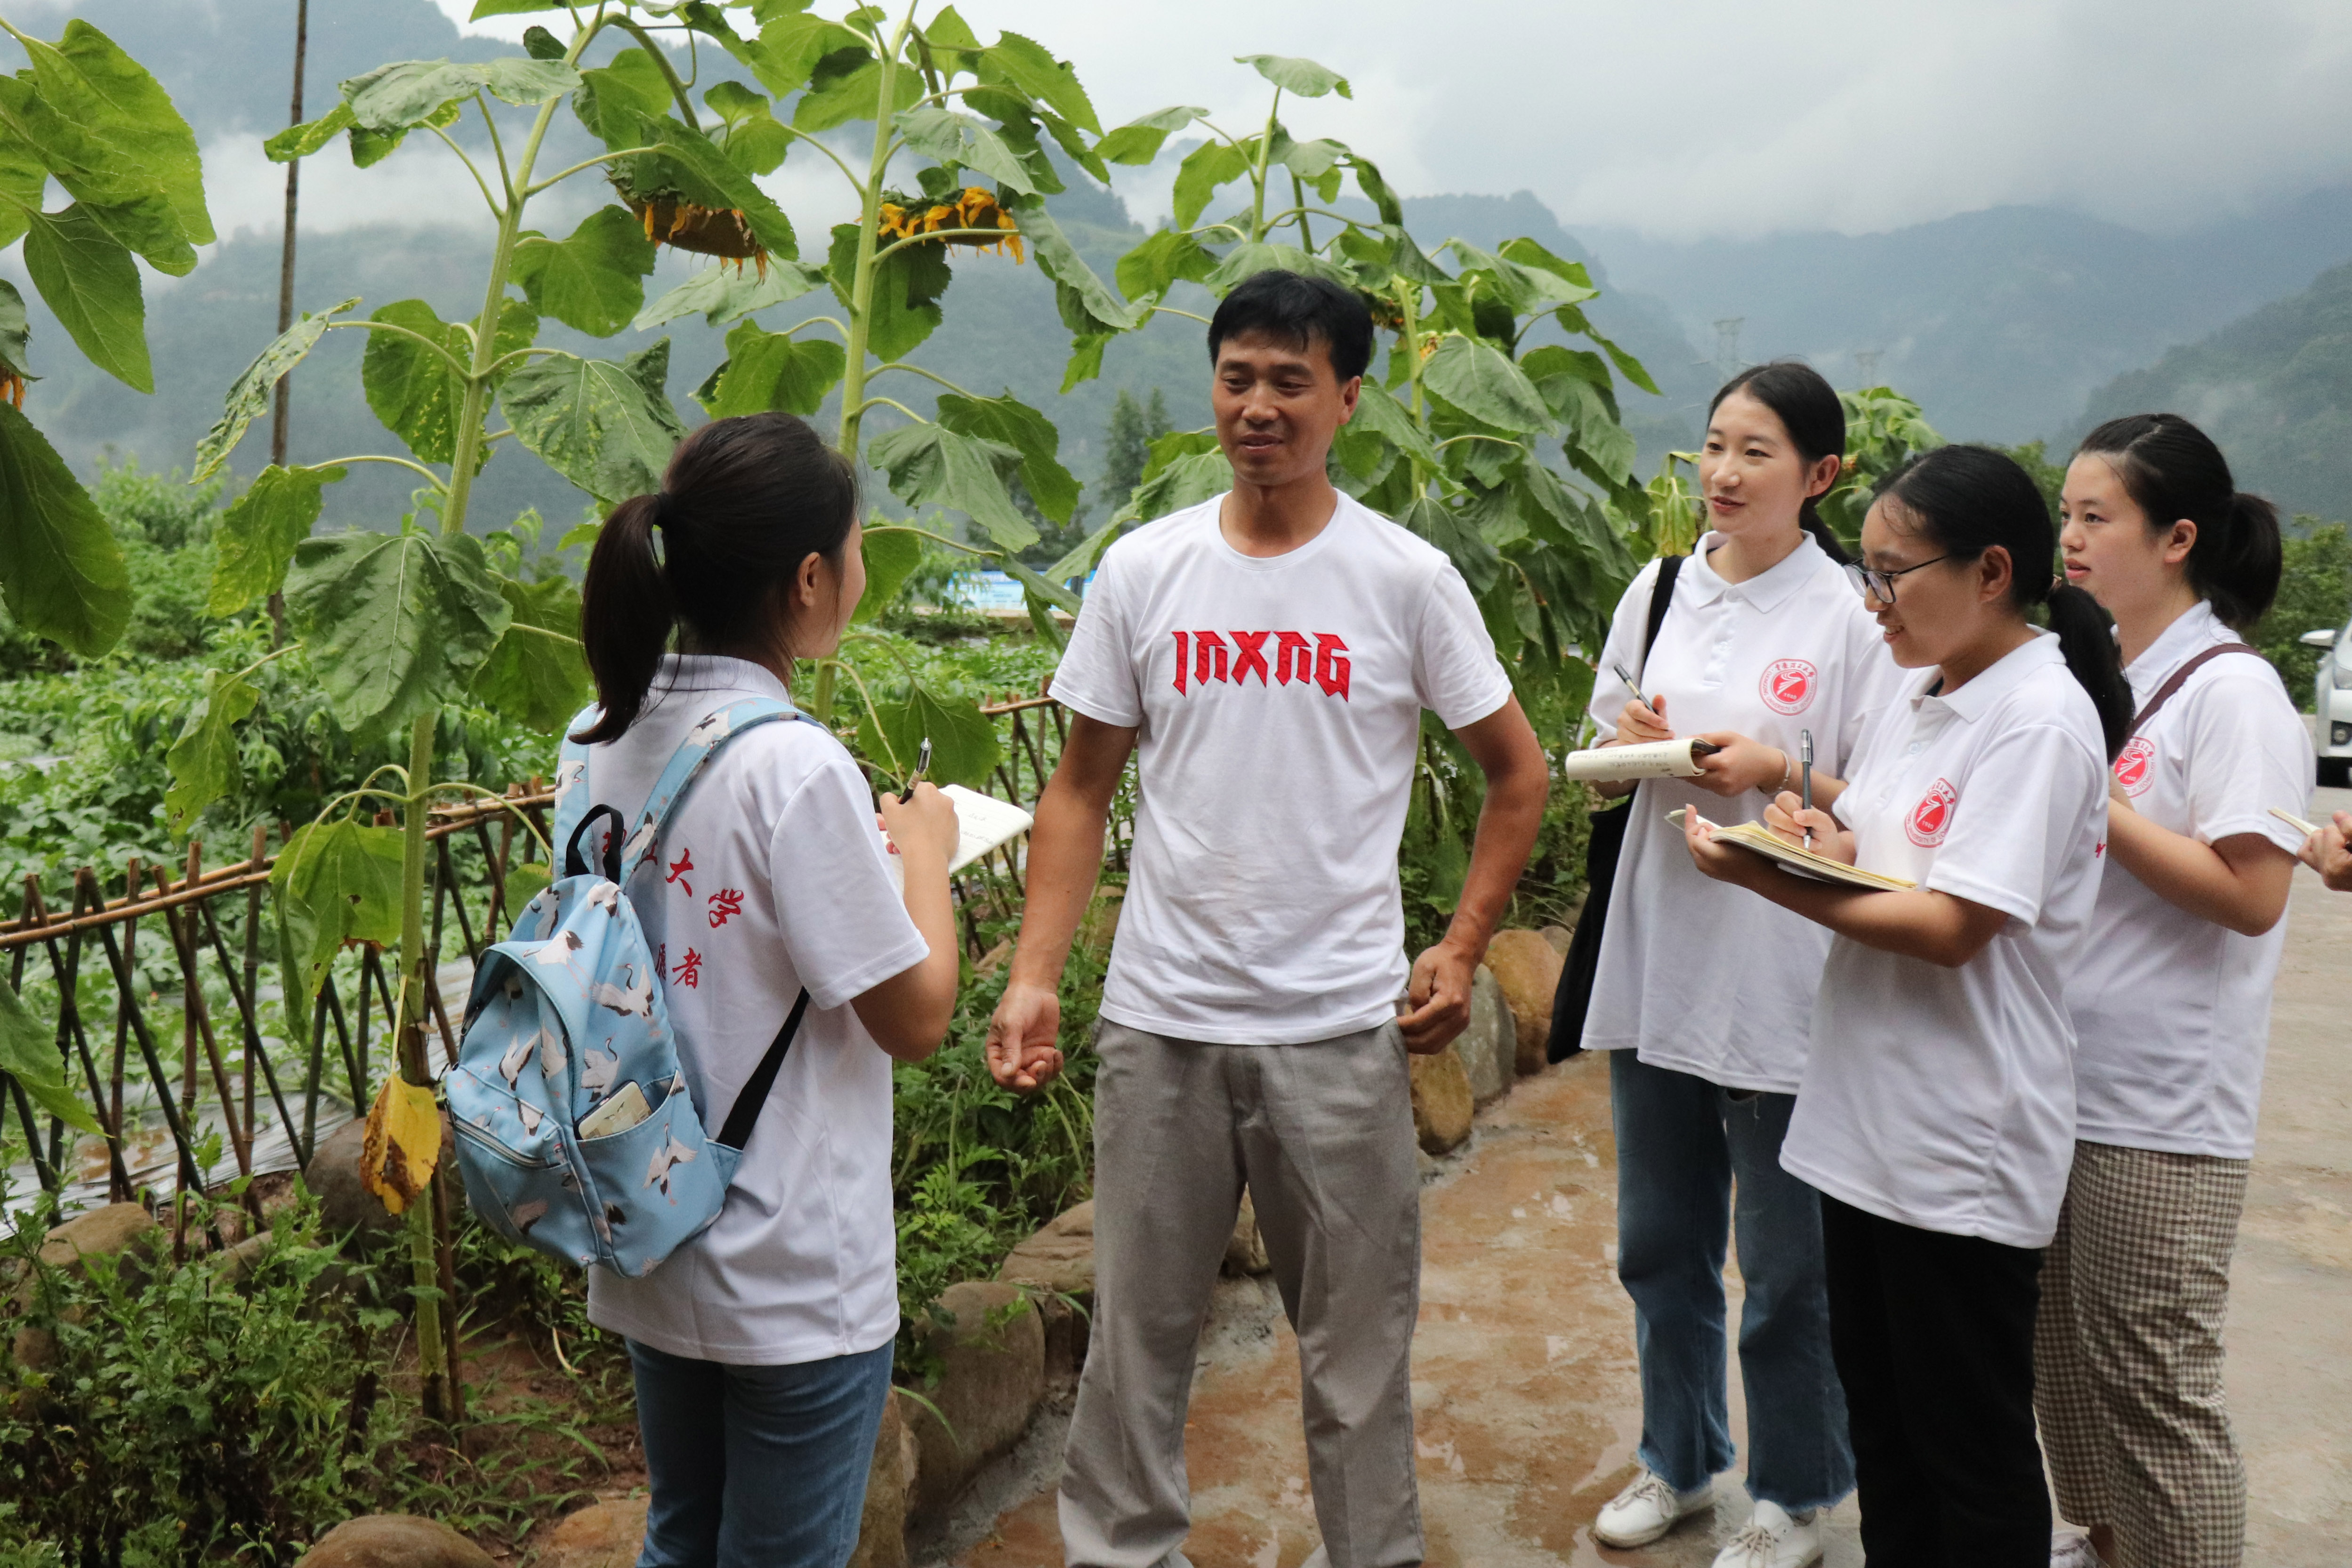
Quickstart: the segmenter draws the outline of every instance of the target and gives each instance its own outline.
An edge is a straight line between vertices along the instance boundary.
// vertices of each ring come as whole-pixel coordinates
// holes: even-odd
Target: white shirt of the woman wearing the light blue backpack
[[[783,698],[739,658],[666,658],[656,701],[588,750],[588,799],[635,820],[687,729]],[[588,1269],[588,1321],[673,1356],[786,1366],[898,1333],[891,1063],[849,1009],[929,945],[882,865],[873,797],[842,743],[797,719],[727,743],[630,884],[661,961],[677,1060],[717,1131],[809,990],[717,1222],[644,1279]]]

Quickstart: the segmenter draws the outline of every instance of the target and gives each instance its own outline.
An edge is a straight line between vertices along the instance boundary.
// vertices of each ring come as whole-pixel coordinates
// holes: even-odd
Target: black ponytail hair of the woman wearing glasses
[[[1877,496],[1900,505],[1955,559],[2009,550],[2009,602],[2020,614],[2049,604],[2058,651],[2098,708],[2112,762],[2131,738],[2131,684],[2098,599],[2051,576],[2058,536],[2042,489],[2016,458],[1990,447],[1938,447],[1886,475]]]

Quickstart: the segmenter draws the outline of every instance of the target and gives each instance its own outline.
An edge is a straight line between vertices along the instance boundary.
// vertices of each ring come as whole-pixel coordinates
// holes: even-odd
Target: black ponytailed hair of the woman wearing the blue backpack
[[[840,564],[856,515],[856,470],[804,418],[715,418],[682,440],[661,491],[616,505],[588,555],[581,642],[604,712],[572,738],[616,741],[637,722],[673,632],[703,649],[757,642],[804,559]]]

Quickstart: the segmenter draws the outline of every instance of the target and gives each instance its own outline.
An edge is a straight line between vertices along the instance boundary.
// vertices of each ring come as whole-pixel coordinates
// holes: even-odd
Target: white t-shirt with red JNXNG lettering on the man
[[[1421,710],[1510,701],[1461,574],[1341,496],[1324,531],[1249,557],[1223,496],[1136,529],[1054,675],[1136,733],[1136,842],[1103,1018],[1216,1044],[1376,1027],[1404,994],[1397,839]]]

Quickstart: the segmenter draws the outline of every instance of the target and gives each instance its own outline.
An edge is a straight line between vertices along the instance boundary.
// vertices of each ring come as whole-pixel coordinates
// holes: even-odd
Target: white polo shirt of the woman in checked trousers
[[[2124,670],[2133,705],[2220,642],[2239,635],[2199,602]],[[2300,811],[2310,797],[2312,736],[2267,661],[2223,654],[2124,743],[2114,776],[2157,827],[2199,844],[2256,832],[2293,853],[2303,835],[2270,809]],[[2074,1135],[2251,1159],[2270,980],[2284,947],[2284,914],[2263,936],[2239,936],[2110,867],[2091,943],[2067,978],[2079,1037]]]

